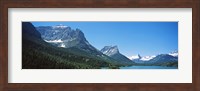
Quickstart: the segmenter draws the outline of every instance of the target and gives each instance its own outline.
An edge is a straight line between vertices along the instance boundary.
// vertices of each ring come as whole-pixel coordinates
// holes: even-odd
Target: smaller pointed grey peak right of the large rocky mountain
[[[128,59],[126,56],[124,56],[123,54],[119,52],[119,49],[117,46],[105,46],[104,48],[101,49],[101,52],[117,60],[120,63],[130,64],[130,65],[134,64],[133,61],[131,61],[130,59]]]

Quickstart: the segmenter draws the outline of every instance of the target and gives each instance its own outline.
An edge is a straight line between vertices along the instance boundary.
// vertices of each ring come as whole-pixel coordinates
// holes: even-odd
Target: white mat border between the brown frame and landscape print
[[[22,70],[22,21],[179,21],[178,70]],[[8,83],[192,83],[191,8],[9,8]]]

